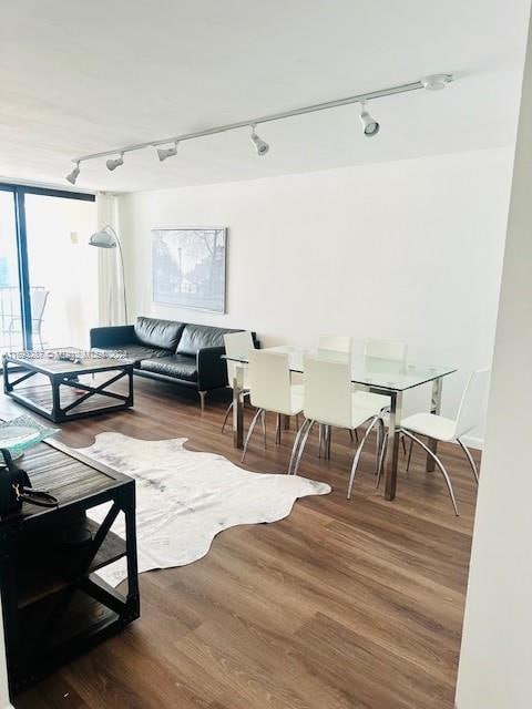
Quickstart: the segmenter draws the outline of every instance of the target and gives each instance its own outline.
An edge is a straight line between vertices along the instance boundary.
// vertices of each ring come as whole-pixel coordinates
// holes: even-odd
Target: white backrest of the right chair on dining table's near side
[[[304,413],[307,419],[346,429],[351,428],[350,363],[318,357],[304,358]]]

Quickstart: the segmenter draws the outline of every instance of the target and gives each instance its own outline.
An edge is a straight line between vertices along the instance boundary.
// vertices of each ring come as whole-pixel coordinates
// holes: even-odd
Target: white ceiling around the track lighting
[[[0,23],[0,177],[66,186],[71,158],[329,101],[433,72],[441,92],[356,106],[82,165],[78,187],[249,179],[508,145],[530,0],[18,0]]]

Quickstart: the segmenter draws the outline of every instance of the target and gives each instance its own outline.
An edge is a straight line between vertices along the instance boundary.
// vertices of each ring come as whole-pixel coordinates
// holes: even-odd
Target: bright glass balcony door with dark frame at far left
[[[95,229],[94,195],[0,184],[0,351],[88,346]]]

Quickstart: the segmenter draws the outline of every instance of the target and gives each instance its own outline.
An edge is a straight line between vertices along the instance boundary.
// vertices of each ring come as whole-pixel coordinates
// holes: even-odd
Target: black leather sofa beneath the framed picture
[[[140,377],[196,389],[203,409],[207,391],[227,386],[226,332],[238,330],[140,317],[135,325],[92,328],[90,337],[96,352],[124,350]]]

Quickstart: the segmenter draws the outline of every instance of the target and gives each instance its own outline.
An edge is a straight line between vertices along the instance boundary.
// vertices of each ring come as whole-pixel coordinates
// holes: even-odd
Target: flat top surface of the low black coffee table
[[[61,356],[78,357],[76,361],[60,359]],[[99,357],[94,352],[63,347],[50,350],[34,350],[3,356],[4,361],[20,364],[43,374],[86,374],[91,372],[133,367],[133,360],[120,357]]]

